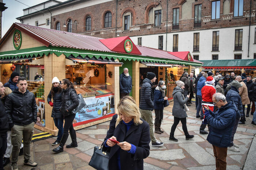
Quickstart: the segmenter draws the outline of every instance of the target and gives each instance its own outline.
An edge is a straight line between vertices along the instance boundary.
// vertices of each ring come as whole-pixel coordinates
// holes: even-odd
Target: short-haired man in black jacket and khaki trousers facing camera
[[[5,111],[12,130],[12,169],[18,169],[18,155],[23,138],[24,165],[37,166],[30,160],[30,143],[37,122],[35,96],[27,90],[27,80],[20,77],[15,89],[5,100]]]

